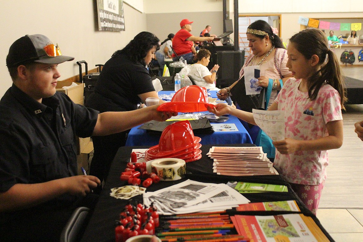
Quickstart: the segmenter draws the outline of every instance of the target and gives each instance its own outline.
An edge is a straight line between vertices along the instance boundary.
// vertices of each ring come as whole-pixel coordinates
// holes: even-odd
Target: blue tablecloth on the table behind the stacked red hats
[[[170,94],[172,91],[160,91],[161,94]],[[217,97],[216,91],[210,91],[212,97]],[[208,112],[206,112],[208,113]],[[241,124],[240,120],[235,116],[229,115],[225,123],[233,123],[236,125],[238,131],[228,132],[213,132],[212,134],[197,134],[202,140],[201,144],[252,144],[251,137],[246,131],[245,127]],[[190,122],[193,122],[191,120]],[[154,146],[159,144],[160,135],[148,134],[146,130],[138,129],[139,126],[132,128],[127,136],[126,146],[150,145]]]

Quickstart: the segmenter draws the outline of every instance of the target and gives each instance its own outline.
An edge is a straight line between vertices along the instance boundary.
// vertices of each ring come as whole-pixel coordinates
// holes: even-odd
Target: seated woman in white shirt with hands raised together
[[[211,52],[207,49],[200,49],[197,53],[198,62],[191,66],[189,75],[194,79],[198,86],[205,87],[209,90],[219,89],[216,87],[216,75],[219,69],[219,65],[213,66],[212,70],[208,70],[209,58],[211,58]]]

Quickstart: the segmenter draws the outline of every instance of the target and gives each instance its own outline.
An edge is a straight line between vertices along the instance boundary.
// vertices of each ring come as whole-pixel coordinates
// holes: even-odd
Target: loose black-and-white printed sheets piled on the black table
[[[143,194],[144,205],[153,203],[159,214],[172,215],[195,212],[215,212],[250,202],[226,184],[186,180],[179,184]]]

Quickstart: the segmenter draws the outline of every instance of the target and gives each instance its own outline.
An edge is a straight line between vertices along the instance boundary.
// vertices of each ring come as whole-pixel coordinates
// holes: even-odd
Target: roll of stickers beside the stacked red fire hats
[[[185,161],[178,158],[161,158],[151,162],[151,170],[161,181],[176,181],[185,175]]]

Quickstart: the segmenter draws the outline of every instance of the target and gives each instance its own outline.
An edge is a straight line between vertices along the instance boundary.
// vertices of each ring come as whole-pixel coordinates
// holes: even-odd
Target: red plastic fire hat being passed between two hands
[[[214,105],[208,103],[208,92],[205,87],[186,86],[177,91],[171,102],[161,104],[157,110],[161,112],[202,112]]]

